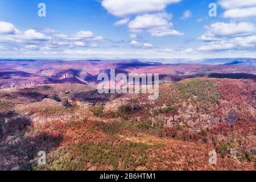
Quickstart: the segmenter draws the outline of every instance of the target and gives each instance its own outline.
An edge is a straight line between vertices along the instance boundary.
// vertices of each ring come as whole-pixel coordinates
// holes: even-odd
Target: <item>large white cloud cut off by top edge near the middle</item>
[[[129,16],[162,11],[180,0],[103,0],[102,6],[115,16]]]

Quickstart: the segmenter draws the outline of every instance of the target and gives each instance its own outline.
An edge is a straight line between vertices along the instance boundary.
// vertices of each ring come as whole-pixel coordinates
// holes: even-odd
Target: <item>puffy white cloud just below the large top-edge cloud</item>
[[[183,35],[170,28],[172,27],[172,23],[169,22],[171,18],[172,15],[167,13],[139,15],[128,24],[128,27],[131,32],[147,31],[151,36]]]

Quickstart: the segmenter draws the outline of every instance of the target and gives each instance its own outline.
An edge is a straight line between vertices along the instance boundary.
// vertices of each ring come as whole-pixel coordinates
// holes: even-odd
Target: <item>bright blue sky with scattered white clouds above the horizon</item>
[[[1,0],[0,57],[256,57],[255,23],[256,0]]]

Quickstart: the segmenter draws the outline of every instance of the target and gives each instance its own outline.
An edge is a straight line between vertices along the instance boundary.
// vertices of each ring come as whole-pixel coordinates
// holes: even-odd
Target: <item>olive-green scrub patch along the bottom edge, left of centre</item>
[[[112,170],[135,170],[146,165],[147,149],[147,144],[133,142],[79,143],[59,148],[49,156],[51,161],[43,169],[86,170],[104,166]]]

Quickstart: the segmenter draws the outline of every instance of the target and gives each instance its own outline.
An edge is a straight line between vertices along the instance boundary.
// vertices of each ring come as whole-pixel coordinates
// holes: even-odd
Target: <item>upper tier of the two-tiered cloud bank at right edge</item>
[[[256,31],[253,23],[246,22],[217,22],[211,24],[210,26],[206,26],[205,28],[207,28],[208,31],[199,38],[203,41],[216,41],[230,37],[245,36],[253,34]]]

